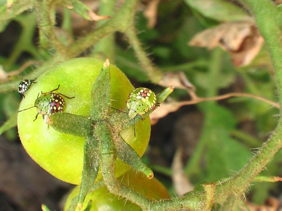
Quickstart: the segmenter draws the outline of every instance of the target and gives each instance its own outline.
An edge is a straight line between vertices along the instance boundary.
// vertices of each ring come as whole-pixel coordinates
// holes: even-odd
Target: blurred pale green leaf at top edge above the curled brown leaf
[[[249,18],[248,14],[241,8],[225,0],[185,0],[185,2],[203,16],[220,22]]]

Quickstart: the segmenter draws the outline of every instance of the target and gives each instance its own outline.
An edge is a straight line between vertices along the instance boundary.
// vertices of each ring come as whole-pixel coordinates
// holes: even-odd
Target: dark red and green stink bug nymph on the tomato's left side
[[[74,98],[74,97],[68,97],[62,93],[54,93],[54,91],[58,90],[59,87],[60,85],[58,86],[58,88],[55,88],[50,92],[44,92],[44,93],[41,92],[40,96],[38,94],[39,97],[37,96],[37,99],[34,102],[34,106],[30,107],[30,108],[36,107],[38,112],[33,121],[37,119],[39,114],[42,114],[43,119],[46,120],[46,118],[48,118],[48,116],[50,116],[51,114],[63,112],[65,109],[65,99],[62,96],[68,99]],[[25,111],[27,109],[29,108],[26,108],[21,111]]]

